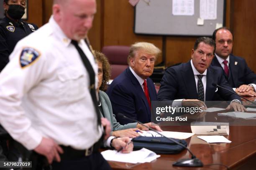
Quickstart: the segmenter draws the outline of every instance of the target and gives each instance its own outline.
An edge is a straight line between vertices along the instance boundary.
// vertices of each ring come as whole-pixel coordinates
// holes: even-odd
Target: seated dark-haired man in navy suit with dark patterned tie
[[[196,40],[191,51],[191,60],[187,63],[170,67],[161,80],[158,100],[198,101],[195,105],[205,107],[204,101],[214,101],[218,95],[231,101],[228,109],[244,111],[241,99],[237,95],[212,85],[212,83],[233,90],[226,82],[219,67],[210,66],[214,57],[215,42],[209,37]],[[218,94],[218,95],[217,95]],[[200,101],[200,102],[199,102]]]

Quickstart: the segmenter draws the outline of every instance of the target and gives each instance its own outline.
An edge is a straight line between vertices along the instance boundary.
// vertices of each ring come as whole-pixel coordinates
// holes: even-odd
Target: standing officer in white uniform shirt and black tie
[[[0,124],[28,150],[54,161],[53,169],[110,169],[95,147],[102,126],[108,137],[110,123],[99,125],[90,92],[95,86],[77,50],[87,56],[97,85],[97,65],[83,40],[95,13],[95,0],[54,0],[49,23],[18,42],[0,74]],[[105,144],[110,141],[119,149],[129,139]]]

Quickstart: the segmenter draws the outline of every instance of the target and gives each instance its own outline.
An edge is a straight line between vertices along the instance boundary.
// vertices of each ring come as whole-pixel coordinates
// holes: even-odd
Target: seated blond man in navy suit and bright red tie
[[[107,90],[113,113],[120,124],[132,121],[120,117],[119,113],[143,123],[151,122],[151,101],[156,100],[156,89],[149,76],[160,52],[158,47],[148,42],[131,45],[129,67],[113,80]]]

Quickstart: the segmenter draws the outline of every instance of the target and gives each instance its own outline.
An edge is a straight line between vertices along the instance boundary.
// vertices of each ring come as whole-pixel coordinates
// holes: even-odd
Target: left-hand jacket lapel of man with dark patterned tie
[[[192,70],[190,60],[185,64],[184,69],[181,70],[182,78],[184,81],[184,85],[187,89],[187,93],[189,97],[192,99],[197,99],[197,87],[196,87],[196,82],[195,82],[195,75]]]

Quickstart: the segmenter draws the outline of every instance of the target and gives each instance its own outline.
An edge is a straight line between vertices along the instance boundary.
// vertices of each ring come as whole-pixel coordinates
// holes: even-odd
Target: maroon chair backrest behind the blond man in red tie
[[[104,46],[102,48],[102,53],[106,55],[111,65],[110,79],[114,79],[128,67],[129,50],[130,47],[123,45]]]

